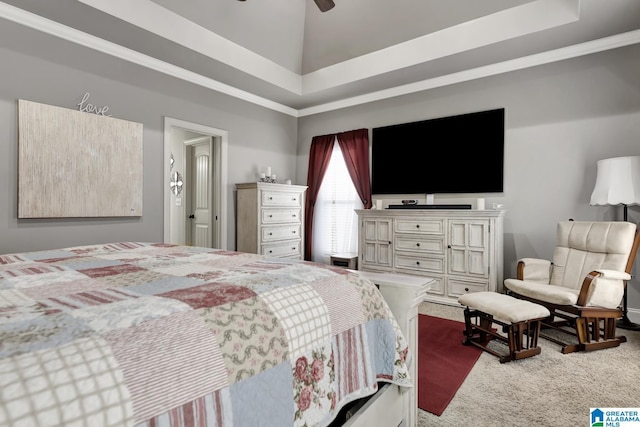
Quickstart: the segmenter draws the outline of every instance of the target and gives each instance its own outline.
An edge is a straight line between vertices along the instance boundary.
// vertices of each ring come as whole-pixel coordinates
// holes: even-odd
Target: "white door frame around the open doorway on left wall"
[[[228,249],[227,244],[227,213],[229,212],[227,205],[227,157],[228,157],[228,131],[217,129],[211,126],[205,126],[198,123],[192,123],[185,120],[164,117],[164,232],[163,240],[165,243],[171,243],[171,192],[169,191],[169,182],[171,180],[171,130],[177,128],[189,132],[200,133],[212,137],[212,156],[213,162],[211,167],[213,180],[213,210],[212,210],[212,226],[214,227],[214,239],[212,245],[215,248]],[[187,144],[182,144],[183,158],[186,158]],[[185,165],[186,166],[186,165]],[[185,176],[190,171],[185,170]]]

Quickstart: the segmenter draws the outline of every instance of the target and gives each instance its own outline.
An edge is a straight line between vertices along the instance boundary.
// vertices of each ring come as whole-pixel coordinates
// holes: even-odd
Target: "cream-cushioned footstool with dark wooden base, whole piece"
[[[500,363],[540,354],[540,321],[551,315],[546,307],[497,292],[465,294],[458,302],[466,306],[463,344],[474,345],[497,356]],[[494,323],[503,327],[506,337],[492,328]],[[492,339],[508,345],[509,352],[489,348],[487,344]]]

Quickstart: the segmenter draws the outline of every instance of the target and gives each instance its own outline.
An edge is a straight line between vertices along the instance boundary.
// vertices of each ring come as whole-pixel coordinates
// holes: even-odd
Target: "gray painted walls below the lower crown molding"
[[[279,177],[305,184],[314,135],[505,107],[505,191],[485,197],[487,207],[495,202],[507,210],[506,275],[520,257],[550,257],[558,220],[621,219],[621,209],[588,204],[595,163],[640,155],[638,45],[298,120],[9,22],[0,26],[0,58],[0,253],[161,241],[165,116],[229,132],[227,231],[234,249],[234,183],[253,181],[270,165]],[[85,92],[114,117],[144,125],[144,216],[18,220],[17,99],[75,109]],[[426,160],[441,161],[437,153]],[[638,222],[640,209],[629,211]],[[640,307],[636,280],[629,298]]]

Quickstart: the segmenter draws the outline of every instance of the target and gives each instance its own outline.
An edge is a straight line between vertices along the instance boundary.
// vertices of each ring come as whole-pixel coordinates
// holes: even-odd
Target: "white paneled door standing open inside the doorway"
[[[211,247],[213,227],[211,224],[211,137],[206,142],[190,147],[189,180],[190,215],[187,227],[189,242],[193,246]]]

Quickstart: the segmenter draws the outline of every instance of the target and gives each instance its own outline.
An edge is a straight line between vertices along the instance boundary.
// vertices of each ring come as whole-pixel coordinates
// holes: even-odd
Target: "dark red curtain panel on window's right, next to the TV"
[[[347,170],[365,209],[371,208],[371,180],[369,178],[369,130],[358,129],[338,134]]]

